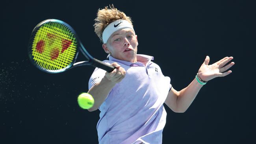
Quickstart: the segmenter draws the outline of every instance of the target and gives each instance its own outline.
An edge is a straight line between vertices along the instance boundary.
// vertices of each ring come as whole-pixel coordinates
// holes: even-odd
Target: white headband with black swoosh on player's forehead
[[[115,31],[118,31],[120,29],[123,28],[131,28],[134,31],[134,28],[132,26],[132,24],[130,22],[128,22],[127,20],[116,20],[114,22],[111,22],[103,31],[102,33],[102,39],[104,44],[107,43],[109,37],[112,35],[112,33],[114,33]],[[134,31],[135,33],[135,31]]]

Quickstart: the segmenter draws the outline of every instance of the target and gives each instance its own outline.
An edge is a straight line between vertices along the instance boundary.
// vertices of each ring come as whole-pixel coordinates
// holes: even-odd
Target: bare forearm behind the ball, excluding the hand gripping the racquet
[[[93,96],[94,105],[88,109],[88,111],[97,110],[107,98],[109,92],[111,89],[113,89],[114,86],[114,82],[109,81],[106,77],[104,77],[99,83],[95,84],[91,89],[89,89],[88,93]]]

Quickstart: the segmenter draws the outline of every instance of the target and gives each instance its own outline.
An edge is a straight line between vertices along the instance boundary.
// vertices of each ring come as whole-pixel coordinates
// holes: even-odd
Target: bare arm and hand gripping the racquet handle
[[[112,63],[115,70],[112,72],[106,72],[105,76],[101,79],[100,82],[96,83],[89,89],[88,93],[93,96],[94,105],[88,111],[97,110],[100,105],[106,100],[109,92],[113,89],[115,84],[119,83],[125,76],[126,71],[124,68],[120,67],[117,63]]]

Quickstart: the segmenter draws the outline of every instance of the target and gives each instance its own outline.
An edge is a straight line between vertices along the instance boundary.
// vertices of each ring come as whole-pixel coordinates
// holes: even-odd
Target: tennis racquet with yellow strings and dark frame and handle
[[[79,50],[87,61],[76,62]],[[56,19],[40,22],[32,31],[28,46],[32,63],[48,73],[60,73],[70,68],[91,65],[107,72],[115,67],[92,57],[69,24]]]

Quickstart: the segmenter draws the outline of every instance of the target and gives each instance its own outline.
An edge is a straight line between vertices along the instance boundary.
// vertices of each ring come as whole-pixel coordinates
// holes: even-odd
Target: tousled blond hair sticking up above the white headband
[[[119,11],[117,8],[115,8],[113,4],[112,6],[109,5],[109,7],[110,9],[108,9],[108,6],[106,6],[104,9],[98,9],[97,17],[95,18],[95,24],[93,25],[95,28],[94,31],[102,43],[102,33],[111,22],[123,19],[132,24],[132,19],[127,17],[122,11]]]

